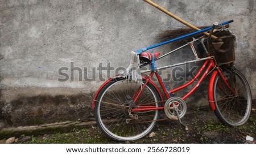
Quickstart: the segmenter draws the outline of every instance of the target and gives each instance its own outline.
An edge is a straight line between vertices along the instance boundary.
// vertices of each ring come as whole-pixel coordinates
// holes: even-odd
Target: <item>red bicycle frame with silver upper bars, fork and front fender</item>
[[[198,40],[198,39],[197,39]],[[197,41],[196,40],[196,41]],[[194,40],[195,41],[195,40]],[[194,42],[193,41],[193,42]],[[214,99],[213,99],[213,82],[214,82],[214,79],[216,78],[217,74],[220,75],[221,79],[224,81],[224,83],[228,86],[228,88],[230,89],[230,91],[233,92],[234,95],[236,95],[236,92],[230,87],[230,85],[228,84],[228,82],[226,81],[224,75],[222,74],[221,70],[219,67],[216,67],[216,62],[214,61],[214,57],[212,56],[209,56],[207,58],[198,58],[197,57],[197,54],[196,52],[194,51],[195,48],[193,48],[193,42],[189,42],[188,44],[186,45],[191,45],[191,49],[193,51],[193,53],[195,54],[195,57],[196,59],[194,61],[189,61],[189,62],[184,62],[184,63],[177,63],[177,64],[172,64],[170,66],[165,66],[165,67],[160,67],[160,68],[157,68],[157,69],[154,69],[154,70],[151,70],[150,71],[150,75],[148,75],[148,77],[146,78],[146,81],[144,82],[143,84],[143,87],[142,88],[138,88],[137,92],[135,92],[134,96],[133,96],[133,100],[134,102],[136,103],[139,95],[141,94],[143,88],[147,85],[148,82],[151,81],[151,78],[152,76],[156,76],[156,79],[158,79],[158,83],[160,84],[160,87],[162,88],[162,91],[164,93],[164,96],[167,98],[167,100],[171,97],[171,94],[172,93],[175,93],[177,91],[180,91],[181,89],[184,89],[186,87],[188,87],[189,85],[191,85],[192,83],[195,83],[195,81],[197,80],[197,83],[194,85],[194,87],[188,92],[186,93],[183,97],[181,97],[183,100],[187,99],[189,96],[191,96],[191,94],[193,92],[196,91],[196,89],[199,87],[199,85],[201,84],[201,82],[206,78],[206,76],[212,72],[212,76],[209,80],[209,83],[208,83],[208,98],[209,98],[209,106],[210,106],[210,109],[212,111],[215,110],[215,106],[214,106]],[[186,46],[184,45],[184,46]],[[184,46],[181,46],[181,47],[184,47]],[[178,48],[180,49],[180,48]],[[177,49],[175,49],[174,51],[176,51]],[[165,55],[163,55],[162,57],[160,58],[163,58],[165,57],[166,55],[168,54],[171,54],[173,53],[174,51],[171,51],[170,53],[167,53]],[[158,59],[160,59],[158,58]],[[157,60],[157,59],[156,59]],[[187,83],[181,85],[180,87],[177,87],[177,88],[174,88],[172,89],[171,91],[168,91],[168,88],[166,87],[166,85],[163,83],[163,80],[162,80],[162,77],[159,75],[159,70],[163,69],[163,68],[170,68],[170,67],[174,67],[174,66],[179,66],[181,64],[185,64],[185,63],[191,63],[191,62],[197,62],[197,61],[204,61],[204,63],[201,65],[200,69],[197,71],[197,74],[195,75],[195,77],[193,77],[192,80],[188,81]],[[144,71],[144,72],[148,72],[148,71]],[[200,79],[199,79],[199,76]],[[199,79],[199,80],[198,80]],[[155,87],[155,86],[154,86]],[[158,87],[155,87],[156,90],[158,92],[159,91],[159,88]],[[163,98],[161,96],[161,98]],[[159,101],[159,102],[163,102],[163,101]],[[148,111],[148,110],[163,110],[164,109],[164,106],[160,106],[160,107],[155,107],[155,106],[143,106],[143,105],[138,105],[138,106],[135,106],[134,109],[131,109],[131,112],[138,112],[138,111]]]

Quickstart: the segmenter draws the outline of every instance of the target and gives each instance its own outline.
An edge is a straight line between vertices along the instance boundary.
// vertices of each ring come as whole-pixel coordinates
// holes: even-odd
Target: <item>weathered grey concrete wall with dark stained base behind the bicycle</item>
[[[255,98],[254,0],[155,2],[195,25],[234,19],[236,64]],[[93,94],[103,83],[97,67],[127,67],[131,50],[152,45],[159,32],[181,26],[142,0],[0,0],[0,128],[88,120]],[[188,57],[176,54],[174,62]],[[158,64],[170,64],[170,58]],[[102,76],[106,79],[108,72]]]

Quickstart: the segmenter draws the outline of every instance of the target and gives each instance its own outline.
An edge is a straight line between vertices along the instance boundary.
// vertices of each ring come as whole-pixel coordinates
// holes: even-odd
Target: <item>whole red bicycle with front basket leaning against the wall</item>
[[[185,126],[181,122],[181,118],[184,117],[187,111],[185,100],[195,92],[209,74],[208,100],[210,109],[214,111],[222,123],[228,126],[244,124],[250,116],[251,92],[245,77],[233,64],[235,37],[228,29],[222,27],[224,24],[217,25],[218,31],[214,30],[216,25],[207,30],[204,29],[204,31],[210,31],[209,36],[217,36],[216,40],[200,36],[180,47],[191,47],[196,57],[193,61],[156,68],[155,61],[174,53],[180,48],[162,56],[158,52],[143,53],[144,50],[147,50],[145,48],[139,50],[141,67],[147,64],[151,66],[150,70],[143,72],[150,72],[150,74],[142,76],[143,80],[141,82],[133,81],[127,76],[117,75],[105,81],[94,96],[92,109],[94,109],[97,125],[102,132],[118,141],[140,139],[150,134],[159,120],[163,120],[160,119],[160,110],[164,111],[167,118],[179,120]],[[185,35],[185,37],[193,35],[195,34]],[[199,58],[197,56],[193,46],[195,42],[199,43],[202,49],[201,52],[205,57]],[[155,46],[150,46],[150,48],[155,48]],[[168,90],[159,75],[159,70],[199,61],[203,64],[192,80],[180,87]],[[163,95],[151,80],[154,75],[160,84],[160,88],[162,88]],[[195,86],[184,96],[172,95],[192,83],[196,83]],[[185,128],[187,130],[187,126]]]

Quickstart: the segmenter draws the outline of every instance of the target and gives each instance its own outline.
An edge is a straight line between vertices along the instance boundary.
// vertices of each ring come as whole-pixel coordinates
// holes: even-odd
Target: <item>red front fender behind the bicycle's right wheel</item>
[[[214,79],[216,78],[218,74],[218,71],[213,71],[212,76],[210,76],[210,80],[208,83],[208,100],[209,100],[209,105],[210,105],[210,110],[214,111],[215,110],[215,105],[214,105],[214,97],[213,97],[213,87],[214,87]]]

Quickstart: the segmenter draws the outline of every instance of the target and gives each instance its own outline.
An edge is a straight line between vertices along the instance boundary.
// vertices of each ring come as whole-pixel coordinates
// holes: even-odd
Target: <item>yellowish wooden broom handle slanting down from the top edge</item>
[[[171,16],[172,18],[176,19],[177,21],[180,21],[180,23],[183,23],[184,25],[187,25],[188,27],[190,27],[190,28],[192,28],[192,29],[195,29],[195,30],[197,30],[197,31],[200,30],[200,28],[197,28],[197,27],[195,27],[194,25],[188,23],[187,21],[185,21],[185,20],[179,18],[178,16],[172,14],[171,12],[169,12],[169,11],[166,10],[165,8],[163,8],[163,7],[159,6],[159,5],[157,5],[156,3],[154,3],[154,2],[152,2],[152,1],[150,1],[150,0],[143,0],[143,1],[147,2],[147,3],[150,4],[151,6],[154,6],[154,7],[158,8],[160,11],[166,13],[167,15]],[[209,36],[209,33],[207,33],[207,32],[203,32],[203,34],[206,35],[206,36]],[[212,35],[212,38],[215,39],[215,38],[217,38],[217,37]]]

